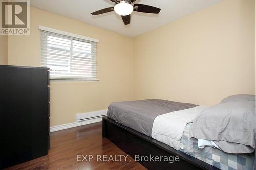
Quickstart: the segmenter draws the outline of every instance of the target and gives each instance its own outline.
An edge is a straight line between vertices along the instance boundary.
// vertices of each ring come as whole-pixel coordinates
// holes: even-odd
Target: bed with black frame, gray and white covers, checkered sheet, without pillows
[[[213,147],[199,149],[197,140],[188,137],[192,125],[190,122],[205,108],[158,99],[112,103],[108,109],[108,117],[103,118],[103,137],[110,139],[132,157],[136,154],[180,157],[180,161],[173,163],[139,161],[148,169],[253,169],[253,153],[228,154]],[[156,124],[159,117],[162,120]],[[162,127],[164,120],[173,122]],[[180,127],[177,129],[177,126]],[[160,134],[164,130],[165,133],[177,132],[180,128],[183,128],[182,136],[174,134],[172,140],[167,140],[165,134]],[[176,136],[180,139],[175,139]]]

